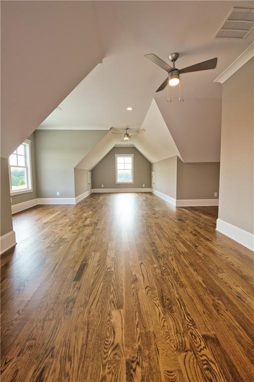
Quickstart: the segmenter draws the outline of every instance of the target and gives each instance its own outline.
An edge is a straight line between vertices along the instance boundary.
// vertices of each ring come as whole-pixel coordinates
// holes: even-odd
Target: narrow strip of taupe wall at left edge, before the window
[[[8,168],[8,159],[7,158],[1,158],[0,170],[1,170],[0,236],[2,236],[2,235],[5,235],[5,233],[12,231],[9,168]]]

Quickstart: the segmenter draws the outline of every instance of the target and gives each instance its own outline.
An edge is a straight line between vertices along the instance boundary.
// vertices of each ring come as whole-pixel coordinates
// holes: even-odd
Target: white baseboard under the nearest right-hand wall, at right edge
[[[227,221],[217,219],[216,230],[254,251],[254,234],[236,227]]]

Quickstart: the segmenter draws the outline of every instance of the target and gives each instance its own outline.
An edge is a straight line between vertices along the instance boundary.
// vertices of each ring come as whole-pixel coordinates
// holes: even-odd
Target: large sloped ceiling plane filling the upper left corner
[[[1,1],[1,156],[101,61],[92,1]]]

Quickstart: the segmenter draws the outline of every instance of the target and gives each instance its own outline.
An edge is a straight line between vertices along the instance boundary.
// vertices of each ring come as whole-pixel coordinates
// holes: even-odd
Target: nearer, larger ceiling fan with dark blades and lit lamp
[[[210,60],[199,62],[198,64],[188,66],[187,68],[184,68],[184,69],[177,69],[175,68],[175,62],[177,61],[179,57],[179,53],[171,53],[169,55],[169,59],[172,62],[172,66],[168,65],[165,61],[161,60],[158,56],[156,56],[156,54],[150,53],[150,54],[145,54],[144,56],[148,58],[148,60],[152,61],[154,64],[160,66],[162,69],[168,72],[168,77],[161,84],[161,86],[156,90],[156,93],[166,88],[168,84],[170,86],[178,85],[180,82],[180,74],[190,73],[190,72],[199,72],[200,70],[215,69],[217,65],[217,57],[215,57]]]

